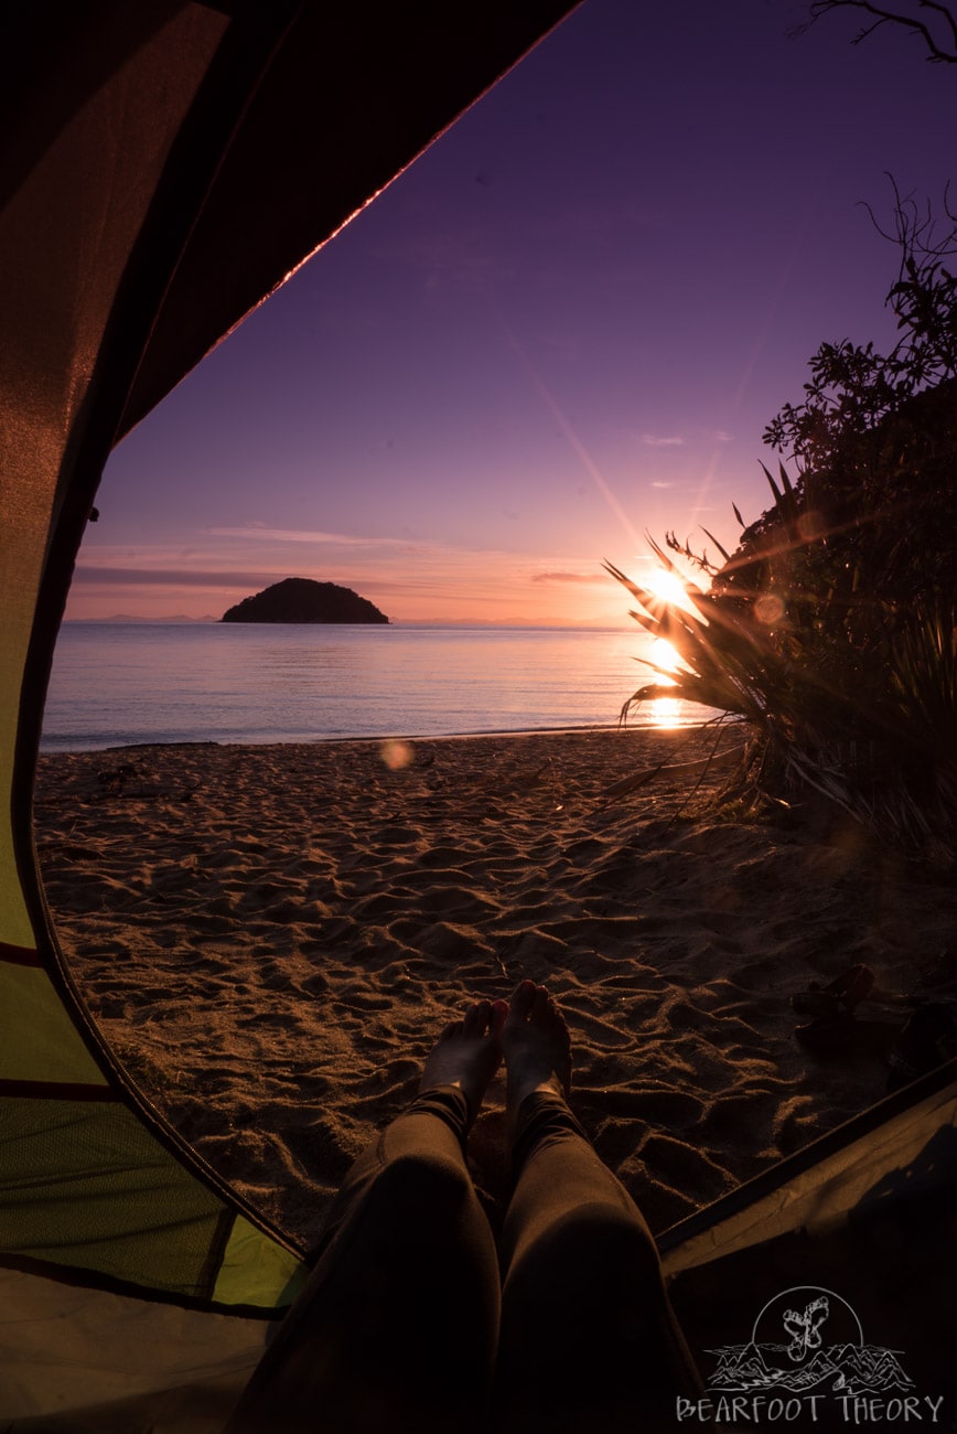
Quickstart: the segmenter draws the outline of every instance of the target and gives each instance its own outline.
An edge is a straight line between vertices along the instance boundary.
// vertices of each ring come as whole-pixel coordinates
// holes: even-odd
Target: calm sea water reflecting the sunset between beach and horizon
[[[652,681],[638,631],[67,622],[44,751],[148,741],[438,737],[615,724]],[[706,708],[646,704],[638,723]]]

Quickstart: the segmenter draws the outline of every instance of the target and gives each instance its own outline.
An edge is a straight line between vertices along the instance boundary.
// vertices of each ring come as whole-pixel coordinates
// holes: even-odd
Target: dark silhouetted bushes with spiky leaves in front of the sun
[[[937,239],[895,199],[901,337],[890,354],[821,346],[804,400],[765,433],[797,473],[765,467],[772,506],[748,526],[735,509],[721,566],[668,536],[711,589],[686,584],[683,609],[609,571],[683,658],[670,694],[748,723],[752,794],[815,787],[940,850],[957,827],[957,221],[946,205]]]

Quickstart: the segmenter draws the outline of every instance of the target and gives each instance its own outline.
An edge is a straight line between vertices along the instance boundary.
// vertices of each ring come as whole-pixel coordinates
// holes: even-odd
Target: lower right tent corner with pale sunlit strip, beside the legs
[[[751,1390],[766,1400],[776,1394],[785,1410],[788,1398],[799,1397],[791,1428],[895,1427],[898,1420],[911,1427],[917,1415],[924,1427],[936,1414],[936,1427],[957,1430],[957,1061],[675,1225],[659,1249],[675,1312],[708,1384],[711,1411],[702,1412],[716,1414],[722,1392],[734,1398]],[[785,1357],[784,1381],[768,1380],[761,1365],[748,1368],[758,1316],[782,1295],[782,1308],[808,1305],[798,1291],[825,1295],[828,1324],[847,1305],[860,1328],[850,1339],[844,1329],[847,1348],[834,1335],[828,1348],[822,1332],[829,1358],[822,1358],[819,1378],[789,1381]],[[781,1321],[765,1335],[774,1347]],[[732,1355],[729,1378],[729,1351],[738,1347],[744,1351]],[[907,1398],[917,1401],[910,1421],[907,1408],[893,1404]],[[864,1412],[857,1400],[880,1410]]]

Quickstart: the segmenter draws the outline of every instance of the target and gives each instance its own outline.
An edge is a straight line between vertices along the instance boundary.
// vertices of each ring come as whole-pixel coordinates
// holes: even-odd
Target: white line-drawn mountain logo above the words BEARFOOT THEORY
[[[748,1344],[709,1349],[721,1392],[887,1394],[913,1390],[900,1349],[867,1344],[847,1299],[817,1285],[785,1289],[758,1314]]]

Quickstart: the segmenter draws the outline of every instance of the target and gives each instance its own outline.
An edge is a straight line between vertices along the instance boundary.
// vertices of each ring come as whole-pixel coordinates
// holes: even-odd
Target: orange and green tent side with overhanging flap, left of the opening
[[[27,0],[0,24],[0,1427],[218,1430],[302,1278],[149,1108],[32,842],[112,446],[573,0]]]

